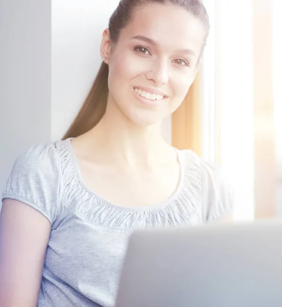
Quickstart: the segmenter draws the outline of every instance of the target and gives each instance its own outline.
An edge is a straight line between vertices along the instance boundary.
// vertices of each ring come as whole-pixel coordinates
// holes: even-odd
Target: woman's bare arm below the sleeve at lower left
[[[5,199],[0,214],[0,306],[37,306],[51,231],[47,218]]]

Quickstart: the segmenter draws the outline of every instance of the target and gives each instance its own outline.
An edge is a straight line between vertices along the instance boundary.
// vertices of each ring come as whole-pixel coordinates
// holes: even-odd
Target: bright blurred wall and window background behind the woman
[[[162,134],[222,166],[236,221],[282,216],[282,1],[203,2],[211,21],[203,64]],[[0,0],[1,191],[23,150],[69,127],[118,3]]]

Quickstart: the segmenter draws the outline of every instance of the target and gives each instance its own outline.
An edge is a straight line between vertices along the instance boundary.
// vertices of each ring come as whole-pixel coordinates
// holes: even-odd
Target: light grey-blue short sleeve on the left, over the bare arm
[[[63,195],[60,174],[60,157],[54,144],[32,146],[14,162],[2,201],[9,198],[23,202],[53,225]]]

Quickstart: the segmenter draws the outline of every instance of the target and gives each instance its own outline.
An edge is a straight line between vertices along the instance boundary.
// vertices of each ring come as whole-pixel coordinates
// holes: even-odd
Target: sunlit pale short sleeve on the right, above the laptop
[[[203,212],[206,222],[221,220],[234,210],[234,191],[222,168],[203,162]]]

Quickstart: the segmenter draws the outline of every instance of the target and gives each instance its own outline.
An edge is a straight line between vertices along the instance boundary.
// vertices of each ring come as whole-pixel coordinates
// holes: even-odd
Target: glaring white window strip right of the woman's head
[[[252,1],[244,0],[243,10],[231,0],[206,0],[204,4],[211,17],[211,26],[215,27],[216,23],[220,26],[212,29],[203,61],[203,156],[216,161],[216,147],[220,142],[221,166],[235,190],[235,220],[252,220]],[[220,76],[218,84],[215,72]],[[219,118],[217,105],[220,105]],[[216,123],[220,124],[219,138]]]

